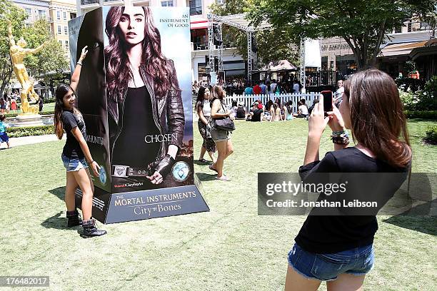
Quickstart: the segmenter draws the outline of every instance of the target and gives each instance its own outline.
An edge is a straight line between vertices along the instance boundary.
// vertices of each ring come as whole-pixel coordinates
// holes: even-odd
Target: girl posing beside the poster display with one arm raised
[[[83,235],[94,237],[106,234],[105,230],[98,230],[92,218],[92,203],[94,185],[91,180],[88,165],[91,166],[94,176],[99,176],[99,165],[91,157],[86,145],[86,127],[84,118],[75,108],[75,91],[81,76],[82,61],[88,53],[86,46],[82,49],[81,57],[77,62],[70,85],[61,84],[56,88],[56,104],[54,126],[56,136],[61,139],[66,132],[66,143],[62,150],[62,161],[66,168],[65,204],[67,208],[68,226],[82,225]],[[82,190],[82,221],[75,205],[75,191],[79,186]]]

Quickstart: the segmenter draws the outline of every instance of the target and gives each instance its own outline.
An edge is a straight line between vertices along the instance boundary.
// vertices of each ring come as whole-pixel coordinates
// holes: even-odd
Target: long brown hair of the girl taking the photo
[[[395,167],[411,162],[406,117],[398,87],[388,74],[368,69],[344,82],[349,101],[353,141]]]

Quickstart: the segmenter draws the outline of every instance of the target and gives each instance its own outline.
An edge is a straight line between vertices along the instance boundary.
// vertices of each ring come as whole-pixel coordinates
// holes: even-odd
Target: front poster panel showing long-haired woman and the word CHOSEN
[[[104,6],[112,192],[192,185],[186,9]]]

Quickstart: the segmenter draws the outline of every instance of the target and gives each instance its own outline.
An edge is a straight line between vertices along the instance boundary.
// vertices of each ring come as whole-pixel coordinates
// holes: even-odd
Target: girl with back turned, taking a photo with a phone
[[[406,180],[411,165],[398,88],[390,76],[376,69],[354,74],[344,88],[340,108],[333,104],[333,111],[325,117],[322,95],[311,112],[305,158],[299,168],[301,178],[320,177],[317,173],[360,173],[358,185],[350,183],[348,187],[353,190],[346,197],[351,198],[362,189],[367,189],[365,196],[392,197]],[[319,160],[318,149],[326,125],[333,131],[333,151]],[[346,128],[351,130],[354,147],[347,147]],[[377,173],[373,175],[376,177],[390,173],[398,180],[385,188],[373,183],[369,190],[364,177],[371,173]],[[387,184],[381,178],[379,182]],[[321,193],[321,197],[326,195]],[[382,207],[378,205],[378,209]],[[328,291],[362,289],[364,278],[373,267],[373,237],[378,223],[376,212],[358,215],[358,211],[347,216],[308,215],[288,253],[285,290],[317,290],[321,281],[327,281]]]

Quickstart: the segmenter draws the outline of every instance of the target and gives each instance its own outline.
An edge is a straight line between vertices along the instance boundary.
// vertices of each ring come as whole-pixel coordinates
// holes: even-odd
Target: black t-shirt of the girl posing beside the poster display
[[[74,114],[73,111],[64,111],[62,112],[61,119],[67,136],[62,153],[69,158],[84,158],[84,153],[82,152],[81,146],[79,146],[79,141],[77,141],[73,136],[73,133],[71,133],[71,130],[77,127],[86,140],[86,127],[84,118],[82,117],[81,113]]]

